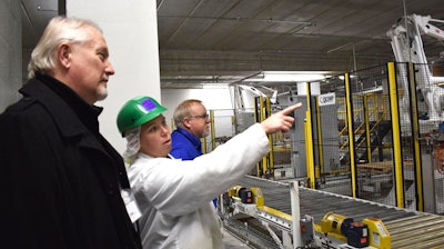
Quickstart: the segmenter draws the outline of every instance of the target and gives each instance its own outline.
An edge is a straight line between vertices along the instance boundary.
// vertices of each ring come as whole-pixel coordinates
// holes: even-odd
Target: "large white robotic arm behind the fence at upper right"
[[[438,40],[444,40],[444,31],[433,26],[433,22],[444,23],[443,20],[433,19],[430,16],[406,16],[396,21],[387,31],[387,36],[392,39],[392,49],[397,62],[413,62],[424,66],[418,67],[416,73],[418,99],[426,102],[426,110],[420,113],[420,118],[423,120],[440,121],[444,119],[444,89],[437,84],[438,81],[432,78],[421,38],[421,36],[426,34]],[[403,74],[405,76],[405,72]],[[405,104],[401,104],[401,108],[408,107],[406,89],[410,89],[406,79],[402,83],[405,89],[402,101]],[[403,121],[408,122],[410,111],[401,110],[401,113],[404,116]]]

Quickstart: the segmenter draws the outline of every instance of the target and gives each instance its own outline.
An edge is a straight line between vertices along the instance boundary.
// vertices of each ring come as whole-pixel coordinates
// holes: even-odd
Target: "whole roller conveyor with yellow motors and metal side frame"
[[[222,219],[225,229],[252,248],[444,248],[442,216],[290,181],[245,176],[239,183],[225,195]]]

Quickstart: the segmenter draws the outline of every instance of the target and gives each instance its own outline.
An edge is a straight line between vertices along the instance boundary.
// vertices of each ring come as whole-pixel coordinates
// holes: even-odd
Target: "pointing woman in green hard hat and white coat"
[[[173,159],[167,108],[150,97],[129,100],[118,114],[128,140],[129,179],[141,218],[143,248],[223,248],[211,200],[251,170],[269,150],[266,135],[289,131],[294,104],[192,161]]]

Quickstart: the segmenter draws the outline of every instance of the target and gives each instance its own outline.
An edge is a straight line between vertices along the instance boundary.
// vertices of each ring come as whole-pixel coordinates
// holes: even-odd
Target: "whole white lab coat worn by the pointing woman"
[[[254,124],[192,161],[138,155],[128,176],[142,212],[138,222],[143,248],[223,248],[211,200],[269,150],[265,132]]]

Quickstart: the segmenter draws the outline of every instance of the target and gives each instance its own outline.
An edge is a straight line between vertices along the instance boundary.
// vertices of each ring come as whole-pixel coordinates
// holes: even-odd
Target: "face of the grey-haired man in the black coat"
[[[107,83],[114,69],[107,42],[95,29],[89,28],[89,39],[71,44],[70,87],[85,101],[94,103],[108,96]]]

